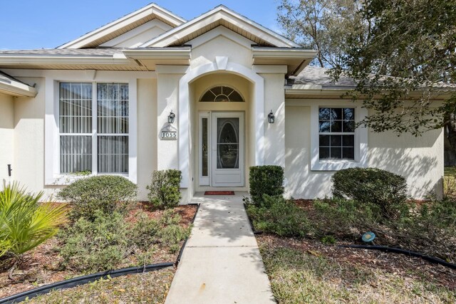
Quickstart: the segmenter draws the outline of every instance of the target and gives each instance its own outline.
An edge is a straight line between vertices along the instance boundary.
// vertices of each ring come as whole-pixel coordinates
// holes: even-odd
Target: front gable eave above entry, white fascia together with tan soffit
[[[269,28],[261,26],[259,23],[256,23],[245,16],[237,14],[235,11],[228,9],[223,5],[219,5],[192,21],[182,23],[180,26],[152,38],[140,47],[182,46],[188,41],[207,33],[217,26],[225,26],[230,30],[239,33],[239,35],[254,41],[259,46],[286,48],[301,47],[288,38],[271,31]]]

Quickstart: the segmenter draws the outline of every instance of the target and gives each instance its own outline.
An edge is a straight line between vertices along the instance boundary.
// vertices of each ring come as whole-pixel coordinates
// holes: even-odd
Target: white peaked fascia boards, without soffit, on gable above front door
[[[150,47],[150,46],[169,46],[171,43],[179,40],[182,37],[189,35],[190,33],[194,33],[204,26],[209,25],[210,23],[214,23],[219,20],[225,20],[229,23],[232,23],[239,28],[244,29],[252,35],[257,36],[261,39],[268,41],[274,46],[281,46],[281,47],[288,47],[288,48],[299,48],[299,44],[294,43],[293,41],[285,38],[284,36],[271,31],[269,28],[265,28],[261,26],[259,23],[256,23],[242,15],[237,14],[236,12],[227,9],[226,6],[217,6],[212,11],[208,11],[206,14],[202,14],[201,16],[193,19],[192,21],[188,21],[187,23],[183,23],[176,28],[173,28],[171,31],[167,33],[163,33],[162,35],[147,41],[146,43],[140,46],[141,48]]]

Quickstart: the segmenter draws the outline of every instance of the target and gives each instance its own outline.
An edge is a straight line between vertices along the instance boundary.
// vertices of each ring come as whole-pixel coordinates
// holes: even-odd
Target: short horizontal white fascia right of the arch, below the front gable
[[[317,53],[318,51],[306,48],[252,48],[254,59],[313,59]]]

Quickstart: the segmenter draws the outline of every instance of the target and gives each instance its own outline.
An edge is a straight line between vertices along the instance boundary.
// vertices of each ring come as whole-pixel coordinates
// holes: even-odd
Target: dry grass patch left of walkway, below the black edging
[[[55,290],[25,303],[165,303],[174,271],[163,269]]]

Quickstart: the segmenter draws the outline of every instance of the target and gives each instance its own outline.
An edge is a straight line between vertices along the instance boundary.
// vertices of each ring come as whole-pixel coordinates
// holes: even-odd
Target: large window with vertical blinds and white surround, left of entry
[[[155,75],[102,70],[36,73],[45,78],[45,184],[71,184],[86,174],[120,174],[136,183],[138,79]]]

